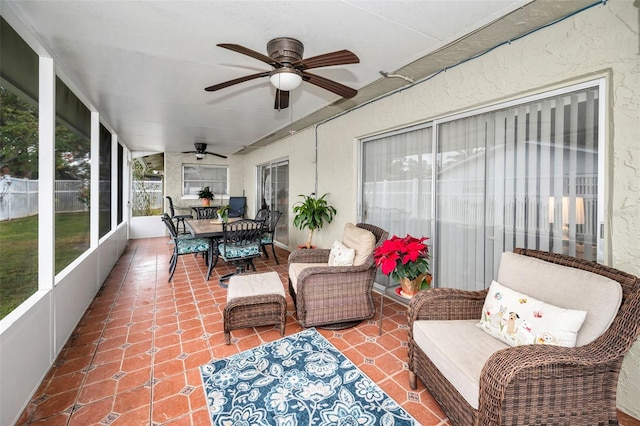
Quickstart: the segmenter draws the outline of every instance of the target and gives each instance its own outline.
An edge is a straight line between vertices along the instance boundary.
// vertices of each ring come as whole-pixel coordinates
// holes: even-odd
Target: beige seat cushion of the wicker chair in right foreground
[[[477,323],[477,320],[413,323],[416,344],[475,409],[482,367],[494,352],[509,347],[480,330]]]

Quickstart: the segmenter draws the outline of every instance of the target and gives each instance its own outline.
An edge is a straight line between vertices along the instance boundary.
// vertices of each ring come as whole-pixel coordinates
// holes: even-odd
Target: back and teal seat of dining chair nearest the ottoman
[[[260,256],[263,223],[242,219],[222,224],[222,242],[218,246],[225,260],[250,259]]]

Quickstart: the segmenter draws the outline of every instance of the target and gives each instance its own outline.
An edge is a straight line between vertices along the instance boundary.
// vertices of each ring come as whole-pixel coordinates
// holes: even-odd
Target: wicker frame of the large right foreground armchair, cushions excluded
[[[409,306],[410,385],[425,384],[453,424],[618,424],[616,389],[624,355],[640,333],[640,279],[573,257],[515,249],[515,253],[586,270],[620,283],[623,299],[611,326],[575,348],[525,345],[495,352],[480,376],[475,410],[416,344],[417,320],[480,319],[487,291],[432,289]]]

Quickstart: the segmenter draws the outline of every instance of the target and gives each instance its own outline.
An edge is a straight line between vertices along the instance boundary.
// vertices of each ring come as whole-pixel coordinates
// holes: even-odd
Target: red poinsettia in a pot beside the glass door
[[[429,248],[427,237],[415,238],[407,234],[393,236],[373,252],[376,266],[381,272],[400,283],[402,294],[411,297],[423,286],[429,288]]]

